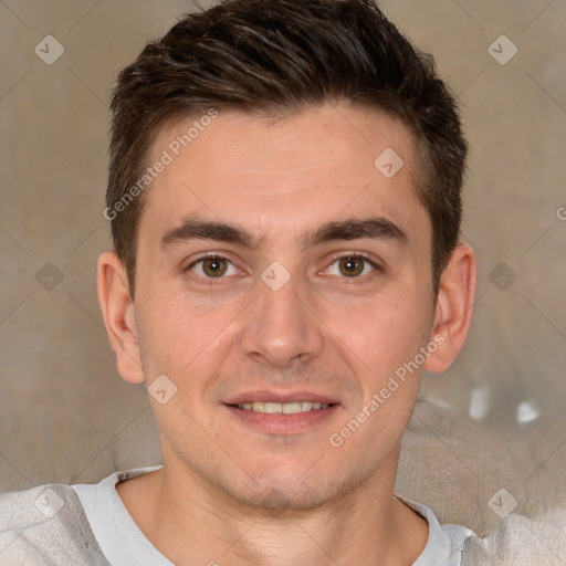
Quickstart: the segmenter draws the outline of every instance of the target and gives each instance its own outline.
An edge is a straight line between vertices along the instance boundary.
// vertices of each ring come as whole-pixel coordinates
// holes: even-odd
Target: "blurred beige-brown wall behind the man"
[[[492,491],[513,484],[527,510],[534,501],[521,499],[522,488],[564,484],[566,460],[566,3],[381,6],[434,54],[472,146],[463,233],[479,260],[475,318],[458,363],[423,384],[423,395],[461,413],[452,430],[465,450],[447,448],[431,424],[421,470],[434,478],[442,458],[449,470],[460,465],[465,483],[483,447],[467,434],[480,421],[484,438],[516,443],[494,442],[474,481]],[[174,0],[0,2],[0,491],[94,482],[159,462],[147,394],[115,369],[95,263],[109,245],[102,212],[112,83],[149,39],[193,9]],[[502,34],[518,50],[506,64],[489,52]],[[46,51],[46,35],[64,48],[51,65],[34,52]],[[492,53],[501,60],[511,49],[497,40]],[[536,418],[517,422],[521,407]],[[416,438],[408,450],[422,448]],[[514,468],[514,455],[528,463]],[[500,459],[514,478],[497,476]],[[413,468],[405,462],[408,478]],[[433,495],[420,478],[413,473],[412,489],[427,503]],[[471,496],[484,505],[484,495]],[[441,511],[458,517],[461,507]]]

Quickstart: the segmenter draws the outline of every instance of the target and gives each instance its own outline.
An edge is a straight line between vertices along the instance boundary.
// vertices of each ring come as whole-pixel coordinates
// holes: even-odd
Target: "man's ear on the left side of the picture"
[[[134,302],[126,270],[115,252],[98,258],[98,304],[119,375],[132,384],[144,382]]]

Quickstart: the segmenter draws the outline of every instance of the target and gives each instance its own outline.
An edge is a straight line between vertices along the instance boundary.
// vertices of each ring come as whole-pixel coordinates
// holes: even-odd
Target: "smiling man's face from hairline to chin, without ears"
[[[164,128],[149,161],[193,120]],[[388,148],[405,161],[391,178],[374,165]],[[308,509],[395,469],[420,368],[367,405],[431,339],[413,167],[398,120],[328,105],[281,120],[221,113],[155,179],[135,312],[147,384],[177,387],[151,399],[170,473]]]

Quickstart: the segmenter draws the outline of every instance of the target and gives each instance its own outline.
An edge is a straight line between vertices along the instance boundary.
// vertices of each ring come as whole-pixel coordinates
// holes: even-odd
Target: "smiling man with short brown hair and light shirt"
[[[112,111],[98,298],[163,465],[4,496],[4,560],[463,564],[473,533],[394,494],[475,287],[431,59],[370,0],[227,0],[148,44]]]

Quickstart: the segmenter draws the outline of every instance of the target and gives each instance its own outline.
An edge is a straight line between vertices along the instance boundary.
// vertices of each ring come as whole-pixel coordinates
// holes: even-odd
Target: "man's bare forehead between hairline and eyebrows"
[[[196,211],[264,228],[373,212],[422,232],[413,138],[400,120],[349,105],[265,117],[210,113],[167,124],[149,164],[165,160],[146,212],[174,226]],[[391,175],[394,174],[394,175]],[[424,219],[424,221],[423,221]]]

